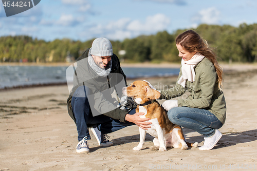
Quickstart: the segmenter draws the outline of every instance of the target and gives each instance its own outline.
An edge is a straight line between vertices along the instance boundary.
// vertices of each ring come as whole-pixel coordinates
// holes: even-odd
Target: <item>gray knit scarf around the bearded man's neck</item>
[[[100,68],[94,61],[93,56],[90,54],[91,49],[88,53],[88,64],[89,66],[101,77],[107,77],[112,69],[112,60],[108,62],[105,68]]]

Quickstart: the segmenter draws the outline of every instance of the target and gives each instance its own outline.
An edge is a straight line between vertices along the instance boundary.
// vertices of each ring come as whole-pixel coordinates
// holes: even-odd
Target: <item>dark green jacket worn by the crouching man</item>
[[[115,90],[120,97],[122,94],[122,90],[121,88],[118,88],[118,89],[115,88],[115,86],[121,82],[123,82],[124,86],[126,86],[126,75],[124,74],[123,70],[120,67],[120,62],[117,55],[115,54],[112,55],[111,73],[109,73],[107,77],[101,77],[89,66],[88,60],[87,60],[88,52],[89,52],[89,49],[87,49],[77,60],[77,68],[74,74],[74,87],[72,88],[70,92],[70,96],[67,99],[68,112],[70,117],[76,123],[76,119],[74,117],[74,113],[72,112],[72,108],[71,108],[71,99],[72,99],[72,96],[74,96],[76,89],[84,85],[90,89],[90,92],[89,93],[87,92],[87,96],[88,94],[93,94],[94,96],[94,105],[93,105],[94,107],[92,107],[90,104],[90,108],[92,112],[98,111],[99,114],[97,115],[103,114],[113,119],[117,119],[121,122],[125,122],[125,116],[127,114],[127,111],[121,110],[120,108],[115,107],[113,103],[110,102],[110,98],[106,100],[102,93],[102,92],[105,92],[105,94],[107,93],[108,96],[111,96],[111,94]],[[105,109],[110,106],[112,106],[113,110],[104,112],[106,111]],[[93,116],[96,116],[94,114],[95,113],[93,113]]]

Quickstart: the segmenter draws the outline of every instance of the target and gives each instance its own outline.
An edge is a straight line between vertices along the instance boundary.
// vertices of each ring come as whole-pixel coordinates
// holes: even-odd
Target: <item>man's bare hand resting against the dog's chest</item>
[[[140,128],[142,128],[144,130],[148,130],[147,128],[151,128],[151,126],[149,124],[152,124],[152,123],[145,122],[145,121],[149,121],[150,118],[140,118],[139,117],[140,115],[144,115],[144,113],[138,112],[133,115],[127,114],[125,116],[125,120],[128,122],[133,122],[134,124],[136,124],[137,126],[139,126]]]

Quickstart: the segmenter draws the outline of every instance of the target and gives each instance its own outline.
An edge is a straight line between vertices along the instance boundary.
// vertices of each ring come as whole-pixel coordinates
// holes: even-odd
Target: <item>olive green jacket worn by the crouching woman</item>
[[[204,108],[212,112],[223,124],[226,120],[226,102],[224,93],[218,89],[217,73],[210,60],[204,58],[195,68],[195,81],[187,81],[185,88],[176,83],[169,90],[161,90],[160,99],[171,99],[181,96],[188,90],[187,99],[179,99],[178,106]],[[181,77],[181,66],[178,79]],[[177,80],[178,81],[178,80]]]

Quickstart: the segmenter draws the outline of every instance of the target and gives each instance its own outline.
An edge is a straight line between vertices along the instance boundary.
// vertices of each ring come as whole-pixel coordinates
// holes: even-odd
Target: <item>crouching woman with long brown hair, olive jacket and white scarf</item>
[[[162,106],[168,110],[170,121],[193,129],[205,136],[200,150],[212,149],[222,134],[218,131],[226,120],[226,102],[222,87],[222,68],[216,54],[205,40],[192,30],[176,37],[178,56],[182,58],[176,86],[162,90],[160,99],[181,96],[186,90],[187,99],[167,100]]]

